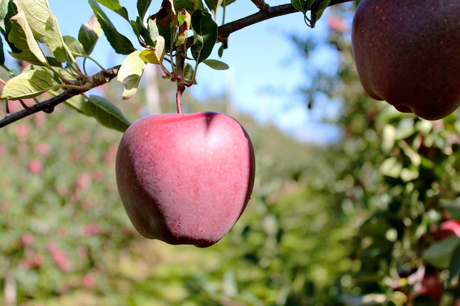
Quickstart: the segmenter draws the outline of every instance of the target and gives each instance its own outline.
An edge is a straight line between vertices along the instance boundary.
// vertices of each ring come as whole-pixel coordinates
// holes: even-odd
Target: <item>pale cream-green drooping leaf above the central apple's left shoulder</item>
[[[131,98],[138,91],[139,81],[146,65],[146,62],[139,57],[140,53],[136,50],[128,55],[118,71],[117,80],[125,89],[122,94],[123,100]]]

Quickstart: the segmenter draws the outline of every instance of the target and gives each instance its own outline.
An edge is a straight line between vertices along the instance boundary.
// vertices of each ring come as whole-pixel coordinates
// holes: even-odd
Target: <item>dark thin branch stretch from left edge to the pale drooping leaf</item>
[[[13,123],[19,119],[23,119],[33,113],[38,113],[40,111],[47,111],[47,110],[52,110],[55,106],[58,104],[67,101],[69,98],[73,96],[80,95],[81,93],[85,91],[89,91],[90,89],[94,87],[98,87],[100,85],[104,85],[105,83],[109,83],[115,76],[118,74],[118,70],[120,69],[120,65],[115,66],[113,68],[110,68],[107,70],[107,72],[100,71],[97,74],[94,74],[92,76],[92,83],[86,83],[87,89],[85,90],[76,90],[76,89],[67,89],[63,93],[60,93],[57,96],[52,97],[51,99],[48,99],[46,101],[37,103],[31,107],[29,107],[29,110],[21,110],[16,113],[12,113],[10,115],[7,115],[5,118],[0,120],[0,128],[9,125],[10,123]],[[91,77],[90,77],[91,79]]]

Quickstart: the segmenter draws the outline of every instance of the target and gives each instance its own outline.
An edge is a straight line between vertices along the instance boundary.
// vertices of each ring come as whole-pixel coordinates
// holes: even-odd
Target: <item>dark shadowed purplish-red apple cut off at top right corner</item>
[[[351,42],[375,100],[437,120],[460,105],[460,1],[362,0]]]

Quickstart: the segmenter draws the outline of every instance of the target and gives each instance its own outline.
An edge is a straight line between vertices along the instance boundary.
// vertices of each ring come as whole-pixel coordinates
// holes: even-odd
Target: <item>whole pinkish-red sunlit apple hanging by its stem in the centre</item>
[[[115,172],[140,234],[207,247],[224,237],[249,201],[254,150],[242,125],[224,113],[156,114],[126,130]]]

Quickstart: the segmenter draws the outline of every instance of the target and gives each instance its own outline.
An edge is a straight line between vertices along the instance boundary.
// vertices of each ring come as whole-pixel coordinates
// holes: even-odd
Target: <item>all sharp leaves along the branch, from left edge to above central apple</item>
[[[160,65],[167,77],[181,79],[187,86],[194,83],[196,68],[201,62],[215,69],[228,68],[223,62],[207,60],[218,40],[218,26],[201,0],[164,0],[161,9],[145,21],[150,2],[139,0],[138,16],[130,21],[127,9],[118,0],[89,0],[94,15],[81,26],[78,39],[75,39],[61,34],[47,0],[1,0],[0,29],[11,48],[9,53],[15,59],[32,65],[17,73],[6,67],[4,51],[0,50],[0,65],[11,77],[0,97],[6,100],[34,98],[38,102],[36,97],[44,92],[57,96],[66,89],[87,91],[100,84],[97,84],[94,76],[86,74],[86,60],[95,62],[103,72],[117,75],[125,87],[123,99],[129,99],[136,93],[147,63]],[[208,2],[215,15],[221,4]],[[98,3],[131,24],[143,51],[138,51],[126,36],[118,32]],[[187,38],[190,29],[194,40],[189,46]],[[90,57],[102,32],[117,53],[127,55],[119,69],[107,70]],[[46,55],[47,50],[44,51],[39,43],[45,45],[51,54]],[[185,67],[177,67],[174,58],[178,54],[188,58],[189,47],[195,66],[187,63]],[[83,58],[82,68],[77,62],[79,58]],[[164,61],[171,63],[170,71],[163,65]],[[120,110],[103,97],[79,95],[67,100],[66,104],[116,130],[124,131],[130,124]],[[95,109],[98,111],[95,112]]]

